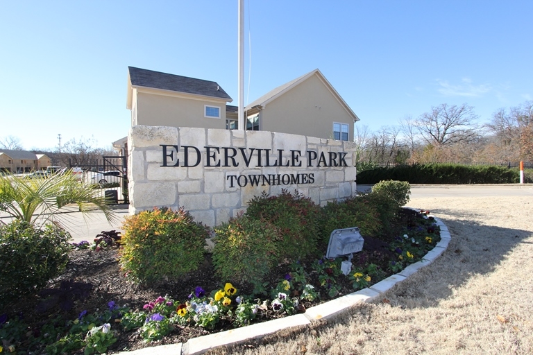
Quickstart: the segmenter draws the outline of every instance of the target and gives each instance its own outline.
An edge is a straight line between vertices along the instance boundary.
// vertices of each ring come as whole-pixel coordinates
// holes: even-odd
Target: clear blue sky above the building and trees
[[[530,0],[245,4],[245,103],[316,68],[370,130],[533,99]],[[216,81],[237,105],[237,0],[0,1],[0,138],[110,147],[130,125],[128,65]]]

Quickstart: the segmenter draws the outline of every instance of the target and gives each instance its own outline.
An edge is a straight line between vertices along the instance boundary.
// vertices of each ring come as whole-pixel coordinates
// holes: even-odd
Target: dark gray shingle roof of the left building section
[[[171,90],[173,92],[185,92],[202,96],[224,98],[232,101],[232,98],[214,81],[188,78],[160,71],[128,67],[132,86],[153,87],[155,89]]]

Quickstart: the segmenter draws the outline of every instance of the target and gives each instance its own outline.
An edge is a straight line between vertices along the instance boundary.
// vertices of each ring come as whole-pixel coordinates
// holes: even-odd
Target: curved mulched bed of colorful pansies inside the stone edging
[[[391,235],[365,237],[364,250],[355,254],[347,276],[340,271],[340,258],[308,259],[280,263],[263,284],[234,286],[213,275],[208,256],[180,282],[143,287],[121,273],[117,250],[104,247],[116,241],[115,234],[108,233],[97,239],[100,251],[71,252],[67,270],[46,290],[3,310],[1,346],[10,352],[93,354],[185,343],[203,334],[303,313],[370,286],[420,260],[439,239],[439,227],[427,211],[404,209]],[[81,243],[81,248],[87,246]]]

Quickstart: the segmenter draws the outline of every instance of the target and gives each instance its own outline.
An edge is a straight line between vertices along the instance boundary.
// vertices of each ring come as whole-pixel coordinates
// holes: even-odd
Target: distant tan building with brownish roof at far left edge
[[[26,150],[0,149],[0,171],[28,173],[44,170],[50,165],[51,159],[44,154],[35,154]]]

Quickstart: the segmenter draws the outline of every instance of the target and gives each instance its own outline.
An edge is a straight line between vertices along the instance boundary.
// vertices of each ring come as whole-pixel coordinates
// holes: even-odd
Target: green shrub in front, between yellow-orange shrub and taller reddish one
[[[267,220],[239,216],[215,233],[212,261],[223,280],[260,282],[277,261],[278,229]]]

